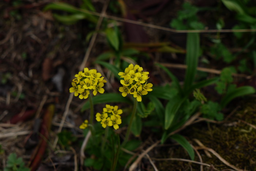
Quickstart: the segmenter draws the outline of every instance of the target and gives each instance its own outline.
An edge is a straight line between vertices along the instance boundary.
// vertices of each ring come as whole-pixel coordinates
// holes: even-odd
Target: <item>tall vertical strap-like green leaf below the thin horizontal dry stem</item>
[[[188,33],[187,37],[187,54],[186,54],[186,76],[184,81],[185,90],[189,90],[196,76],[196,67],[200,54],[199,33]]]

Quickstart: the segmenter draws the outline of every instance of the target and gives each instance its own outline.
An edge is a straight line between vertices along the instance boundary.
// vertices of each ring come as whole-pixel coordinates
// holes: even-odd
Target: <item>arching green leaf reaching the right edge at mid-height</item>
[[[221,107],[222,108],[225,107],[227,103],[229,103],[234,98],[248,95],[248,94],[253,94],[253,93],[255,93],[255,88],[251,86],[238,87],[235,90],[230,91],[223,97],[223,99],[221,100]]]

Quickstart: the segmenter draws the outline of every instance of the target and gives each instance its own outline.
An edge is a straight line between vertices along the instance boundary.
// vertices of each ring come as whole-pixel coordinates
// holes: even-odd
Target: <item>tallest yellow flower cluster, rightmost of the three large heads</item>
[[[143,68],[139,65],[133,66],[133,64],[130,64],[124,72],[119,72],[118,75],[124,79],[120,81],[123,87],[119,88],[124,97],[127,94],[133,94],[133,97],[141,102],[141,96],[146,95],[148,91],[152,91],[153,84],[147,83],[148,72],[143,72]]]

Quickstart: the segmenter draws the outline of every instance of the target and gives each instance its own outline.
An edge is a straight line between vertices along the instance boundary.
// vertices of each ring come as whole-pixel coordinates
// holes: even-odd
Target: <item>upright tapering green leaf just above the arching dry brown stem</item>
[[[187,96],[185,98],[180,98],[179,96],[176,96],[176,98],[173,98],[172,100],[169,100],[169,102],[166,104],[165,107],[165,129],[170,128],[174,121],[174,117],[180,108],[181,104],[187,99]]]

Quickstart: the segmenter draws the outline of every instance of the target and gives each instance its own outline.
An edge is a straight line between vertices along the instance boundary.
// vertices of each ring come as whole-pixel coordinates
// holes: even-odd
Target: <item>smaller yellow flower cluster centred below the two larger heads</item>
[[[109,104],[106,104],[102,114],[96,114],[96,120],[101,122],[103,128],[106,128],[106,126],[113,126],[114,129],[118,129],[118,125],[122,123],[120,116],[122,113],[123,110],[118,109],[118,106],[110,106]]]

